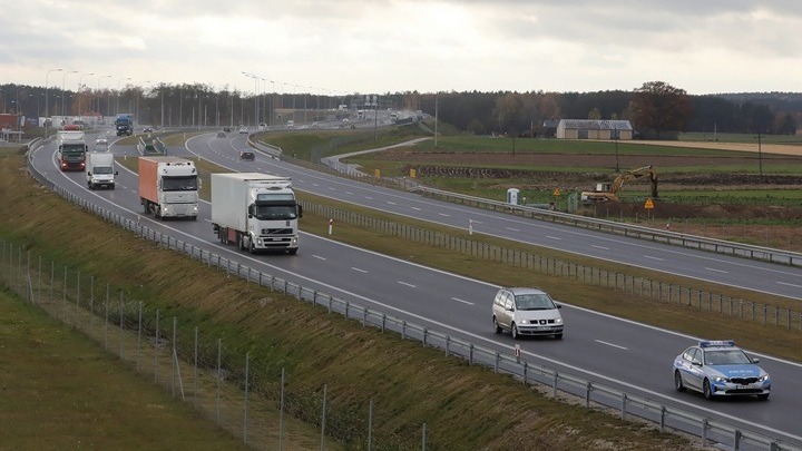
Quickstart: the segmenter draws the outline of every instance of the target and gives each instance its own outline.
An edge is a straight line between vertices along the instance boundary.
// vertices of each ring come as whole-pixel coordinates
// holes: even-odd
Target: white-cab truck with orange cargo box
[[[197,220],[198,174],[195,163],[178,157],[139,157],[139,202],[157,218]]]

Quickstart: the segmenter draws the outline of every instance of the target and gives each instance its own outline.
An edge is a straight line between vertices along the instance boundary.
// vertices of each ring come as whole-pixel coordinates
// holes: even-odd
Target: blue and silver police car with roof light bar
[[[674,388],[715,396],[769,399],[771,378],[732,340],[701,341],[674,359]]]

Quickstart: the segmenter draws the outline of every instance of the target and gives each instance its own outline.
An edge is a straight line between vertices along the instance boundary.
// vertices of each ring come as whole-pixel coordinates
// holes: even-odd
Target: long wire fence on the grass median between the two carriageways
[[[428,246],[446,248],[472,257],[537,271],[541,274],[573,278],[586,284],[622,290],[648,301],[684,305],[694,307],[700,312],[721,314],[732,318],[753,321],[764,325],[774,325],[802,332],[802,312],[788,307],[726,296],[721,293],[712,293],[693,286],[636,277],[595,266],[564,262],[521,249],[453,236],[443,232],[400,224],[326,205],[306,202],[302,204],[304,210],[307,213],[329,217],[334,222],[376,231],[384,235],[423,243]]]

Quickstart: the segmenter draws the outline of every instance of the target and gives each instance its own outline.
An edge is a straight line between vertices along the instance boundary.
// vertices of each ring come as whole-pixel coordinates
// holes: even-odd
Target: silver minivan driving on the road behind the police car
[[[512,339],[522,335],[563,337],[563,316],[551,296],[538,288],[501,288],[492,305],[493,330],[509,331]]]

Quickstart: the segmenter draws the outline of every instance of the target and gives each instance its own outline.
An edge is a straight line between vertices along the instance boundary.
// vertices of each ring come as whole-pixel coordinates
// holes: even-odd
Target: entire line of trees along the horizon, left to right
[[[134,112],[139,124],[165,126],[221,126],[277,122],[288,111],[358,108],[364,98],[310,92],[247,95],[236,89],[214,89],[200,84],[162,84],[145,89],[78,91],[3,85],[3,112],[21,110],[27,117],[114,116]],[[664,81],[649,81],[632,91],[596,92],[480,92],[418,91],[379,96],[382,108],[421,110],[473,134],[521,135],[542,133],[546,120],[628,119],[645,137],[666,137],[676,131],[795,134],[802,118],[800,95],[691,96]],[[47,105],[48,110],[45,110]],[[299,120],[297,117],[293,117]],[[309,120],[316,120],[315,115]]]

